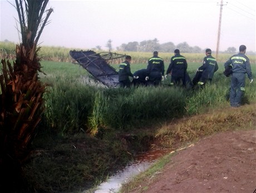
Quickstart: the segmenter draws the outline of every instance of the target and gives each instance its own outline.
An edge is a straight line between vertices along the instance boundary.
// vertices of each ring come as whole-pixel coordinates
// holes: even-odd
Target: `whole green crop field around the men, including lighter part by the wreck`
[[[124,128],[127,123],[136,123],[137,119],[169,119],[173,116],[195,114],[202,108],[229,106],[225,96],[229,90],[230,77],[226,78],[223,75],[223,64],[219,64],[213,84],[203,90],[191,92],[175,87],[128,90],[93,87],[92,75],[78,64],[47,61],[41,63],[42,70],[47,75],[40,74],[40,77],[43,82],[50,85],[45,96],[46,104],[49,106],[46,108],[46,120],[60,130],[73,132],[82,128],[97,133],[97,129],[101,127]],[[188,64],[191,79],[200,65],[201,63]],[[118,64],[112,66],[118,69]],[[252,64],[253,72],[255,67],[256,65]],[[131,64],[132,72],[142,68],[146,68],[146,64]],[[165,64],[165,69],[167,68],[168,65]],[[164,81],[168,82],[169,78]],[[249,84],[249,79],[246,83],[244,102],[254,101],[255,83]],[[116,114],[116,111],[120,113]],[[81,120],[81,116],[85,115],[88,119]],[[66,117],[67,123],[59,120],[61,117]]]

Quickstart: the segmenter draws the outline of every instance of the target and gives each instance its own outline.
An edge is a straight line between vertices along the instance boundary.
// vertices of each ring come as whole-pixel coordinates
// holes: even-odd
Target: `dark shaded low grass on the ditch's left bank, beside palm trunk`
[[[42,135],[47,143],[23,168],[27,192],[80,192],[105,180],[131,159],[128,147],[114,134],[111,143],[80,134],[66,138]],[[51,138],[51,139],[49,139]]]

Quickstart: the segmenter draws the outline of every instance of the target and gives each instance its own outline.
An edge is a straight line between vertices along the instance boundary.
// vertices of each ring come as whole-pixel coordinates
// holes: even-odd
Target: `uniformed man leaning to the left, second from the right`
[[[205,55],[203,65],[198,68],[198,71],[202,72],[198,82],[201,87],[204,87],[208,81],[211,83],[214,73],[219,69],[216,59],[211,56],[211,49],[206,49]]]

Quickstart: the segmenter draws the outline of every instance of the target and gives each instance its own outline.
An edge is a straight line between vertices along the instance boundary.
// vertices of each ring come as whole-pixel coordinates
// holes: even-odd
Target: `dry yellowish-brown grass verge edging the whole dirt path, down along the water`
[[[179,139],[179,145],[184,149],[188,144],[195,143],[206,136],[230,131],[252,130],[256,127],[256,104],[245,105],[239,109],[214,109],[207,114],[195,115],[181,119],[175,124],[164,125],[157,129],[156,137],[161,138],[162,143],[171,143],[170,139]],[[169,144],[168,144],[169,145]],[[179,151],[179,149],[178,149]],[[150,184],[157,180],[157,174],[164,172],[164,166],[171,162],[174,153],[167,154],[159,159],[147,171],[137,175],[129,183],[122,186],[120,192],[144,192]]]

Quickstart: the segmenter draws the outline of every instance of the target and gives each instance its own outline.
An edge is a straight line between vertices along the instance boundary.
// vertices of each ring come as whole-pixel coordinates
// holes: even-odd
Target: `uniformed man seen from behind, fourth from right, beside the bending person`
[[[164,79],[164,60],[158,57],[158,52],[153,53],[153,57],[149,59],[147,65],[146,80],[149,80],[150,84],[159,85],[161,80]]]

